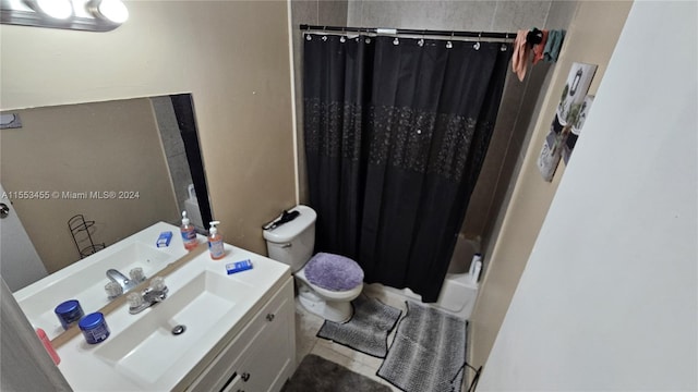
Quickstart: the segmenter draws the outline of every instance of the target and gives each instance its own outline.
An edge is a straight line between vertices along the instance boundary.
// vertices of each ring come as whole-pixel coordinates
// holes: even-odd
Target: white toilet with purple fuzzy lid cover
[[[269,258],[290,266],[298,299],[305,309],[326,320],[345,322],[353,313],[350,302],[363,290],[363,271],[344,256],[313,256],[317,215],[308,206],[288,212],[293,211],[299,212],[293,220],[263,231]]]

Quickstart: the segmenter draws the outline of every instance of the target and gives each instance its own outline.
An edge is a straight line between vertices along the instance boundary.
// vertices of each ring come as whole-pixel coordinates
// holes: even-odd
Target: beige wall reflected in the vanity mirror
[[[160,220],[177,219],[149,99],[15,113],[22,127],[0,131],[0,179],[7,192],[59,194],[12,200],[49,273],[80,259],[68,229],[68,220],[77,213],[95,221],[93,240],[106,245]],[[135,198],[119,198],[135,196],[130,193],[117,194],[117,198],[91,197],[93,192],[110,191],[139,194]],[[71,198],[73,193],[77,198]]]

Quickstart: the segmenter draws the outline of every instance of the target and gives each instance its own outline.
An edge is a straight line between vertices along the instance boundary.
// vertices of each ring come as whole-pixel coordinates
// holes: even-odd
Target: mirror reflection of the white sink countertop
[[[149,240],[154,233],[144,236]],[[53,313],[60,303],[77,299],[85,315],[109,303],[105,292],[108,269],[117,269],[128,277],[132,268],[141,267],[144,274],[151,277],[185,253],[183,248],[157,248],[154,241],[152,244],[137,240],[115,244],[15,292],[14,297],[29,321],[53,339],[63,332]]]

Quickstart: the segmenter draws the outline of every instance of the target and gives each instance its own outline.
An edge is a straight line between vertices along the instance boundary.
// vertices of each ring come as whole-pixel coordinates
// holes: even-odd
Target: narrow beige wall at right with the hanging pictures
[[[598,64],[589,94],[594,94],[618,39],[631,2],[580,1],[546,90],[540,115],[516,181],[512,201],[493,249],[485,255],[485,274],[471,318],[471,360],[485,363],[509,306],[547,208],[564,173],[564,163],[551,183],[538,171],[537,158],[554,115],[573,62]],[[593,107],[592,107],[593,112]],[[582,136],[583,137],[583,136]],[[574,160],[574,155],[571,160]],[[554,295],[554,293],[551,293]]]

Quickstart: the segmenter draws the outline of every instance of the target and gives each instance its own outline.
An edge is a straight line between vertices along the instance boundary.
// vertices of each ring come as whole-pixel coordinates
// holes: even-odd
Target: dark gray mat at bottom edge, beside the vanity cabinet
[[[306,355],[281,392],[390,392],[390,387],[314,354]]]

